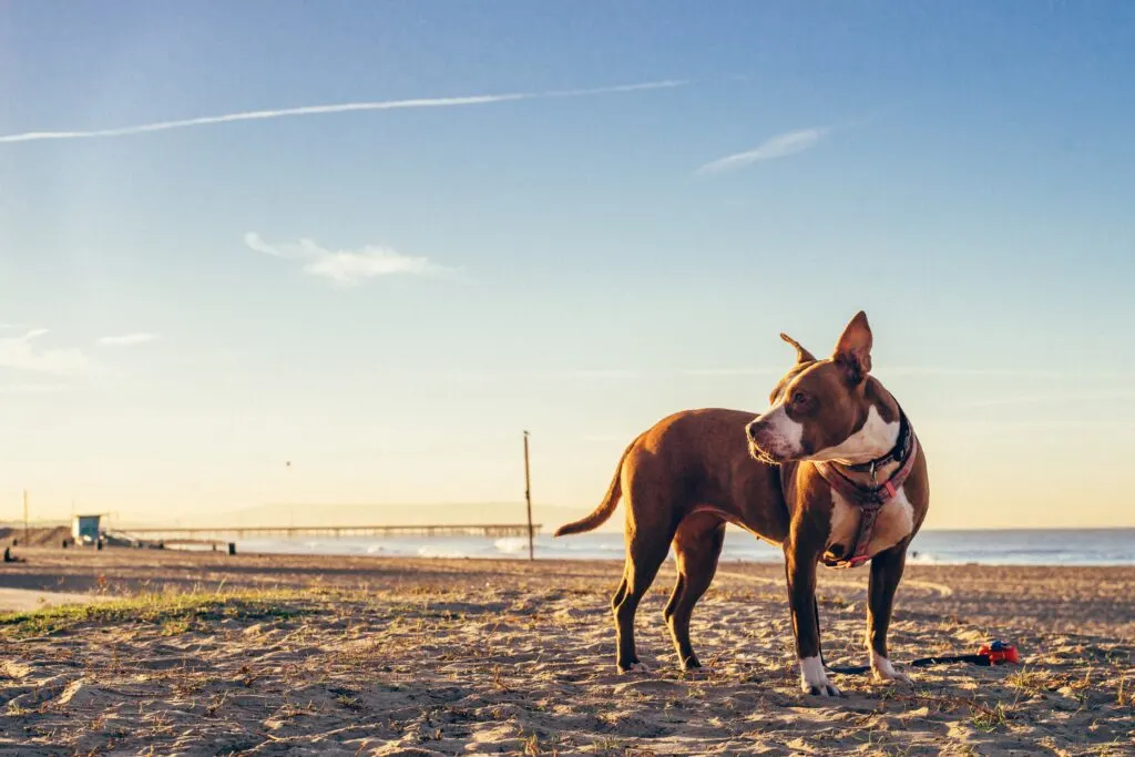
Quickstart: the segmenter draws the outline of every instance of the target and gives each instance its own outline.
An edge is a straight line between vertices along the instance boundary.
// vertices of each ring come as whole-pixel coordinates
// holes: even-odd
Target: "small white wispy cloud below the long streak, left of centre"
[[[259,234],[249,232],[244,244],[266,255],[303,263],[311,276],[329,279],[339,286],[353,286],[378,276],[432,276],[453,269],[438,266],[428,258],[404,255],[390,247],[368,245],[361,250],[325,250],[311,239],[292,244],[270,244]]]

